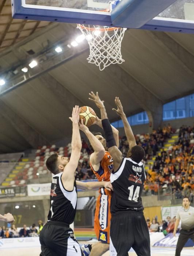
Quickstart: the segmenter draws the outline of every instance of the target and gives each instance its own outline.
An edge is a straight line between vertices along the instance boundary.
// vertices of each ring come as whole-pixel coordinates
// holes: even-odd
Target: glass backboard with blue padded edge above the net
[[[12,0],[18,19],[194,33],[194,0],[121,0],[106,9],[109,0]]]

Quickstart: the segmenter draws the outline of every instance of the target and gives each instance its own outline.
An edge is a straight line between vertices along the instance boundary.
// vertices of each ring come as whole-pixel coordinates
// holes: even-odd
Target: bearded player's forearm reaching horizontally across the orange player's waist
[[[82,182],[76,180],[76,185],[78,189],[81,190],[95,190],[99,188],[106,188],[107,190],[113,190],[110,181],[89,181],[89,182]]]

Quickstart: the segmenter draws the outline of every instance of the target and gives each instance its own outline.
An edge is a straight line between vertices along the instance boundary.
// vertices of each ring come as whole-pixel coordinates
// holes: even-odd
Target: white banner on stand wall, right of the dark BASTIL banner
[[[28,196],[49,196],[51,183],[27,185]]]

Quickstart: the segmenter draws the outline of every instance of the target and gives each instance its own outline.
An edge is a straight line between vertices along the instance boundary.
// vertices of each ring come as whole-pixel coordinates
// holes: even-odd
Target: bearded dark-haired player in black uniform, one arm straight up
[[[83,190],[105,187],[110,190],[110,182],[80,182],[75,181],[74,173],[78,165],[81,152],[81,138],[79,132],[79,106],[72,112],[72,153],[70,160],[57,153],[51,155],[47,161],[47,169],[54,174],[50,190],[50,211],[48,221],[40,233],[40,256],[83,256],[80,245],[74,238],[69,225],[76,214],[77,188]],[[83,125],[83,121],[82,124]],[[96,143],[94,138],[92,143]],[[98,142],[98,141],[97,141]]]

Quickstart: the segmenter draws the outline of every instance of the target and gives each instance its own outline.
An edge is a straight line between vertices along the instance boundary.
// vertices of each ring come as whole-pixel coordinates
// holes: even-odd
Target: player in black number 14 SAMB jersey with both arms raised
[[[131,247],[138,256],[150,256],[149,230],[141,201],[146,178],[141,161],[145,156],[145,151],[137,146],[121,101],[116,97],[117,110],[113,110],[122,118],[129,142],[127,158],[123,158],[116,146],[103,101],[100,100],[98,93],[95,95],[91,92],[90,97],[97,106],[101,106],[100,113],[105,138],[114,161],[114,171],[110,176],[114,190],[111,198],[110,256],[126,256]]]

